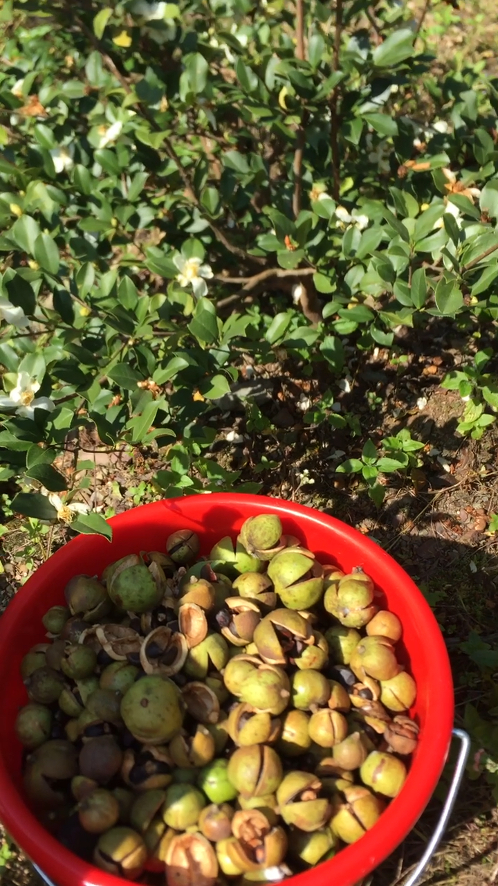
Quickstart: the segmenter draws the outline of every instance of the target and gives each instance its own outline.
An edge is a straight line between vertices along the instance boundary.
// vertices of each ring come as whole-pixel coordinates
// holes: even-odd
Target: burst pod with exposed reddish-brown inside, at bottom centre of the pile
[[[264,870],[284,861],[287,836],[284,828],[272,828],[259,809],[239,810],[232,820],[232,834],[227,851],[242,872]]]

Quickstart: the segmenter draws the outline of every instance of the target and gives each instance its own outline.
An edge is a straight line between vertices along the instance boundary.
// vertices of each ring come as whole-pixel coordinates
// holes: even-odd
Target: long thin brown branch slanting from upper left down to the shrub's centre
[[[74,13],[72,12],[72,14],[74,14]],[[78,27],[81,27],[83,33],[89,38],[89,41],[92,44],[92,46],[94,46],[95,49],[97,50],[97,52],[100,53],[100,57],[102,58],[105,66],[111,72],[111,74],[113,74],[114,77],[116,77],[116,79],[121,83],[121,86],[125,90],[125,92],[127,92],[128,95],[134,95],[134,90],[130,87],[126,77],[124,77],[123,74],[121,74],[121,71],[116,66],[115,62],[113,61],[113,58],[111,58],[111,56],[108,55],[107,52],[105,52],[100,41],[97,40],[97,37],[92,33],[92,31],[89,29],[89,27],[87,27],[85,25],[84,21],[82,21],[82,19],[80,19],[79,16],[75,16],[75,21],[76,21],[76,24],[78,25]],[[160,126],[156,123],[156,120],[154,120],[152,114],[150,114],[148,112],[147,108],[145,108],[138,101],[138,99],[136,99],[136,101],[134,102],[134,107],[138,110],[138,112],[142,115],[142,117],[144,117],[145,120],[148,120],[148,122],[151,124],[152,129],[154,129],[156,132],[162,131]],[[185,196],[188,197],[191,200],[191,202],[194,203],[195,206],[197,206],[198,209],[202,212],[203,208],[202,208],[200,200],[198,199],[198,196],[195,193],[195,190],[193,188],[193,184],[191,182],[191,177],[184,169],[184,167],[182,165],[182,160],[180,159],[180,157],[176,153],[175,147],[174,147],[173,143],[171,142],[171,139],[169,139],[167,136],[163,136],[163,146],[164,146],[165,152],[167,153],[168,158],[170,160],[172,160],[173,163],[175,163],[175,167],[177,169],[178,175],[180,175],[180,178],[182,179],[183,185],[185,187]],[[237,255],[238,258],[240,258],[240,259],[244,259],[246,261],[251,261],[253,264],[260,264],[261,265],[266,262],[266,259],[263,259],[260,256],[250,255],[249,253],[246,253],[244,249],[241,249],[239,246],[236,246],[233,243],[230,243],[230,240],[227,239],[227,237],[225,237],[222,230],[220,230],[217,227],[217,225],[214,224],[213,221],[209,221],[209,219],[206,219],[206,221],[207,221],[209,227],[211,228],[211,230],[213,231],[214,237],[216,237],[216,239],[219,241],[219,243],[221,243],[225,247],[225,249],[228,250],[228,252],[232,253],[233,255]]]

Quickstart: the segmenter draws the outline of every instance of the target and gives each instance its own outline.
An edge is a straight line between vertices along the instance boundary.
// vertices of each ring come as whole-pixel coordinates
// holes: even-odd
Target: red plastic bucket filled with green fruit
[[[35,572],[0,619],[0,820],[30,859],[58,886],[124,886],[64,849],[38,823],[22,796],[21,748],[14,734],[19,706],[27,701],[19,665],[27,650],[44,640],[44,612],[63,602],[66,582],[78,572],[100,574],[107,563],[139,550],[164,550],[167,535],[191,528],[202,540],[202,554],[223,535],[236,536],[246,517],[271,511],[284,532],[297,535],[322,563],[338,563],[350,571],[362,566],[387,607],[403,625],[404,662],[416,679],[414,713],[420,742],[401,794],[368,834],[288,886],[354,886],[409,834],[424,811],[447,758],[453,727],[453,683],[440,629],[424,597],[398,563],[360,532],[319,511],[257,495],[213,494],[160,501],[113,517],[113,542],[95,535],[80,536],[51,556]]]

